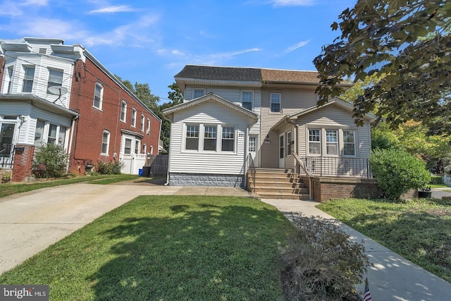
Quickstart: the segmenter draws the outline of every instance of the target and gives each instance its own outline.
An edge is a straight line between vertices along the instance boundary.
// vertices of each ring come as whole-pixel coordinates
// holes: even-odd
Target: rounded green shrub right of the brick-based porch
[[[425,187],[431,181],[424,161],[400,149],[374,149],[369,163],[379,188],[390,199],[399,199],[410,189]]]

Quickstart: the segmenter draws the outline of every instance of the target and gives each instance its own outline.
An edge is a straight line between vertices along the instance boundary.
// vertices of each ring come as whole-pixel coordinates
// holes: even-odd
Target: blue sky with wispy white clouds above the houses
[[[186,64],[315,70],[356,0],[0,0],[0,39],[82,44],[112,73],[166,102]]]

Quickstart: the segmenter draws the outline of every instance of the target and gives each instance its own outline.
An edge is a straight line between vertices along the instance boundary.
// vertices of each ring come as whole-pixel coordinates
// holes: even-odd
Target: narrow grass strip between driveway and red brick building
[[[0,197],[7,197],[20,192],[28,192],[40,188],[48,188],[59,185],[68,185],[75,183],[92,183],[92,184],[111,184],[122,182],[124,180],[134,180],[138,176],[135,175],[101,175],[101,176],[78,176],[75,178],[65,178],[61,180],[44,180],[34,183],[3,183],[0,184]],[[149,178],[146,178],[147,180]]]

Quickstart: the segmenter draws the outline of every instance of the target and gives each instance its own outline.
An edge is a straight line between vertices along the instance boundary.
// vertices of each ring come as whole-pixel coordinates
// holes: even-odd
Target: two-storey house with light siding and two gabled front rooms
[[[369,173],[366,162],[375,116],[367,114],[364,125],[357,126],[352,104],[337,98],[317,106],[316,72],[187,65],[175,81],[185,100],[163,111],[172,124],[170,185],[231,185],[204,175],[243,176],[249,155],[257,168],[294,170],[292,152],[320,176]],[[233,153],[221,152],[218,140],[216,148],[204,149],[209,125],[216,127],[218,140],[221,127],[233,125]],[[198,139],[195,149],[190,135]]]

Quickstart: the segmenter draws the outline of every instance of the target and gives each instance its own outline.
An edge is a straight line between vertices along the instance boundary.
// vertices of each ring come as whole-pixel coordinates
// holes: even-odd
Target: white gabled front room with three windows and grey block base
[[[171,121],[170,185],[244,185],[246,137],[257,114],[212,93],[163,114]]]

